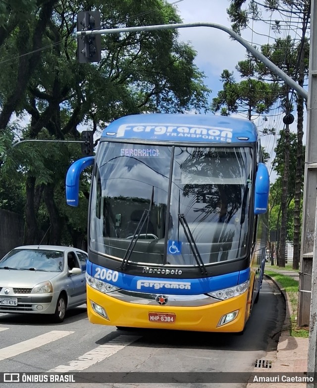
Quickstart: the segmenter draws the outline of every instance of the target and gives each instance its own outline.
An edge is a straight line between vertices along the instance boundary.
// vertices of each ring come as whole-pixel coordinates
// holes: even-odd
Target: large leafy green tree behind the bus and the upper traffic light
[[[210,90],[194,64],[196,53],[177,41],[177,31],[103,36],[101,62],[78,63],[76,14],[93,7],[101,10],[102,24],[112,28],[180,21],[175,8],[163,0],[146,4],[57,1],[45,29],[46,50],[39,52],[39,62],[15,110],[31,117],[20,133],[22,138],[78,140],[78,126],[84,125],[95,132],[97,142],[107,123],[126,114],[208,111]],[[12,33],[6,40],[10,55],[17,39]],[[1,55],[0,93],[6,99],[11,93],[12,69],[1,64]],[[67,236],[76,245],[82,244],[76,235],[86,234],[89,177],[81,182],[80,215],[76,216],[64,199],[65,172],[80,157],[79,147],[26,143],[12,155],[14,168],[25,179],[25,243],[38,242],[51,225],[46,237],[50,243],[63,242]]]

